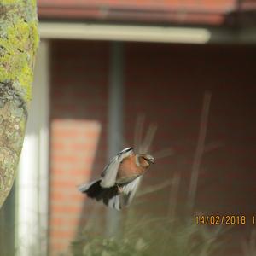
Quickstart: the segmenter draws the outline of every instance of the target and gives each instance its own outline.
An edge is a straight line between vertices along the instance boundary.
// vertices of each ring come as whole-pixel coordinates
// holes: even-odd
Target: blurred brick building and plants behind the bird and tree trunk
[[[255,255],[255,1],[38,0],[38,17],[0,254]],[[151,124],[150,153],[172,154],[156,157],[129,210],[79,194]],[[196,225],[202,214],[247,223]]]

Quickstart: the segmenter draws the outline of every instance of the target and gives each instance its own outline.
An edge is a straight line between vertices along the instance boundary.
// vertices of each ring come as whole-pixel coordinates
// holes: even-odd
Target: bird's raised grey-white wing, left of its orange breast
[[[125,148],[104,168],[102,172],[102,188],[110,188],[115,184],[120,163],[125,157],[130,156],[131,154],[133,154],[132,148]]]

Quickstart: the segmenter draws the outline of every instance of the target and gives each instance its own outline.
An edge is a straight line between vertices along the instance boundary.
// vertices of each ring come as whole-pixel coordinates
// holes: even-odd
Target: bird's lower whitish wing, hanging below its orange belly
[[[115,195],[108,201],[108,206],[120,211],[123,207],[128,207],[136,194],[139,184],[142,181],[142,176],[137,177],[131,183],[122,187],[122,194]]]

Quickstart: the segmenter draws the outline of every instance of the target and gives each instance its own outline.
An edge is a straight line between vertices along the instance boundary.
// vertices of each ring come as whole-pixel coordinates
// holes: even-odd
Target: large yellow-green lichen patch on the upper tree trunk
[[[32,68],[38,41],[37,21],[26,22],[23,19],[11,24],[6,36],[0,38],[3,48],[3,54],[0,55],[0,81],[18,81],[26,102],[32,97]]]

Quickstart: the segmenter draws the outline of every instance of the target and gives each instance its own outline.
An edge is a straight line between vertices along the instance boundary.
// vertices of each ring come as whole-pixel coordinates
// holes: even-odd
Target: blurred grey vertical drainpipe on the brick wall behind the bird
[[[121,42],[110,43],[108,88],[108,160],[123,148],[124,49]],[[120,212],[108,207],[106,235],[119,234]]]

